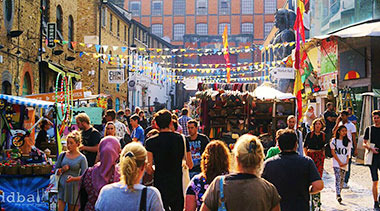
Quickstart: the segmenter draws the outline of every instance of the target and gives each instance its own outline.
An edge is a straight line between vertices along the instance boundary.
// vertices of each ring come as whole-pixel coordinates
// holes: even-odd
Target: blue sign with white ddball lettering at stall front
[[[42,195],[49,185],[49,176],[0,176],[1,207],[12,211],[49,210]]]

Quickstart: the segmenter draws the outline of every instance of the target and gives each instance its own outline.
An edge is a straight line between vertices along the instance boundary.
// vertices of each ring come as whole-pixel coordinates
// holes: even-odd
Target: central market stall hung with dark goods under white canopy
[[[192,104],[199,105],[196,110],[204,133],[210,139],[222,139],[231,144],[239,136],[250,133],[269,136],[268,145],[271,145],[271,135],[286,127],[286,118],[295,114],[294,96],[268,85],[256,88],[251,84],[254,88],[248,88],[249,85],[232,84],[231,89],[217,85],[205,89],[202,85],[196,93]]]

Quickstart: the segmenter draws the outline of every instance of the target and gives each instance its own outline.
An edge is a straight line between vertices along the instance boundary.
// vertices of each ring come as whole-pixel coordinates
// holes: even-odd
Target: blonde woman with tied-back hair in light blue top
[[[102,188],[95,210],[163,210],[160,192],[140,184],[147,152],[139,142],[127,144],[120,155],[121,180]]]

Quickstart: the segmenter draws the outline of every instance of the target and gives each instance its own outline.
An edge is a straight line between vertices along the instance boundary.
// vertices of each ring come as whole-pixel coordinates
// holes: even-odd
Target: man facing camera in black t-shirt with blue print
[[[189,136],[186,138],[190,145],[191,158],[194,164],[194,167],[190,170],[191,179],[201,172],[202,154],[210,140],[207,136],[198,133],[198,122],[194,119],[187,122],[187,130],[189,131]]]

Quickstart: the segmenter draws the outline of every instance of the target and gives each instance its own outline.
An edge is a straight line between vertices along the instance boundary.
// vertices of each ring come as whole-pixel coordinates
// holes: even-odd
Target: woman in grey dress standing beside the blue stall
[[[67,136],[68,151],[58,156],[56,163],[57,174],[61,175],[58,184],[58,210],[65,210],[68,204],[68,210],[74,211],[79,209],[76,203],[79,192],[80,176],[87,169],[86,156],[79,152],[81,143],[81,134],[78,131],[71,132]]]

